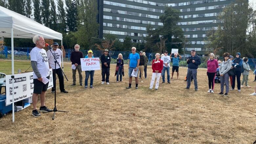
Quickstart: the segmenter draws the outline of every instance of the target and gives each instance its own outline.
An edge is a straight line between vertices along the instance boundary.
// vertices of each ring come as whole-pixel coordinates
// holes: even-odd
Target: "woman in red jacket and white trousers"
[[[155,56],[156,56],[156,58],[152,62],[153,73],[152,73],[152,79],[151,79],[150,87],[149,87],[150,90],[153,88],[156,77],[157,77],[157,81],[156,81],[155,90],[158,90],[159,80],[160,80],[161,72],[163,69],[163,61],[160,59],[160,54],[156,53]]]

